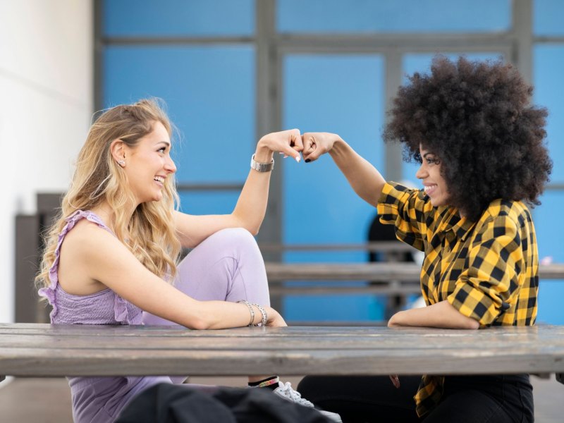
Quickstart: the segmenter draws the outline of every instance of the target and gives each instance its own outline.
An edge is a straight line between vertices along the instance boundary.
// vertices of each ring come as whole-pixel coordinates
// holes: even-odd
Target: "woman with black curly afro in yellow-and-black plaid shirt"
[[[386,180],[341,137],[302,135],[306,162],[329,153],[353,190],[398,239],[424,252],[427,307],[388,326],[478,329],[529,326],[537,317],[537,238],[527,204],[551,173],[546,111],[503,63],[434,59],[401,87],[385,131],[421,166],[422,190]],[[298,389],[343,422],[532,422],[527,374],[307,376]],[[415,401],[412,397],[415,396]]]

